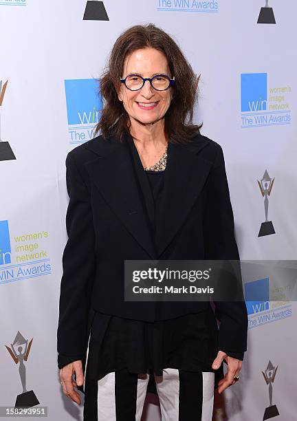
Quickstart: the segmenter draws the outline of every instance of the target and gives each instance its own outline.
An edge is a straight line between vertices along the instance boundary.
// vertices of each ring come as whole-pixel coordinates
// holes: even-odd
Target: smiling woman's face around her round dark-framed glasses
[[[151,78],[155,74],[173,77],[170,74],[166,56],[154,48],[136,50],[126,56],[122,78],[126,78],[129,74],[140,74],[143,78]],[[148,80],[138,91],[131,91],[122,83],[118,92],[118,98],[123,102],[131,122],[137,120],[142,124],[161,120],[170,106],[172,95],[172,87],[166,91],[157,91]],[[144,108],[144,104],[151,104],[152,107]]]

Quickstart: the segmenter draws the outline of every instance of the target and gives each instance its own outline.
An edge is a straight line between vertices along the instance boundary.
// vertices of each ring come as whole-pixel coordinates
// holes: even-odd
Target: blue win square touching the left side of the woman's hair
[[[65,80],[68,125],[98,123],[102,109],[98,88],[98,81],[94,79]]]

